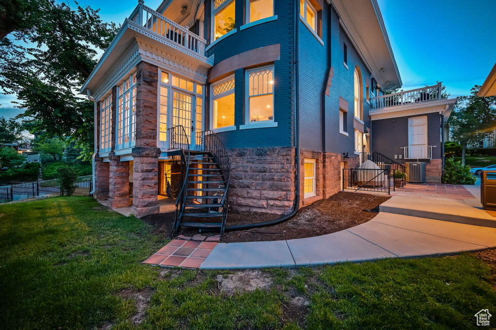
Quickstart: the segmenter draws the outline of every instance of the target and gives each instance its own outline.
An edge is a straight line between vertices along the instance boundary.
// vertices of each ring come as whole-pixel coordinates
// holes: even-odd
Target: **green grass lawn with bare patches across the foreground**
[[[0,328],[468,329],[496,312],[474,254],[267,269],[268,286],[229,293],[247,271],[141,264],[165,243],[91,198],[0,204]]]

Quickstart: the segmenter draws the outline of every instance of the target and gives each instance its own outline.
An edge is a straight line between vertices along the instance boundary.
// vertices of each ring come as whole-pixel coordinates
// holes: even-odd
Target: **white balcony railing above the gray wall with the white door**
[[[372,110],[441,100],[441,83],[371,98]]]

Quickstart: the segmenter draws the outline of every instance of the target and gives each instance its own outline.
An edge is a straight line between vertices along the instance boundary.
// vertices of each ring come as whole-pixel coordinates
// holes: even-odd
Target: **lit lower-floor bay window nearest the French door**
[[[212,127],[234,126],[234,75],[212,85]]]

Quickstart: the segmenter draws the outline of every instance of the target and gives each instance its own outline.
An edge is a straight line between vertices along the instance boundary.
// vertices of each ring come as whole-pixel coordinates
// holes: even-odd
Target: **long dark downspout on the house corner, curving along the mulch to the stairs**
[[[296,1],[296,3],[299,3],[299,1]],[[295,8],[297,8],[298,5],[295,5]],[[273,226],[276,224],[279,224],[281,222],[290,220],[293,218],[298,210],[300,209],[300,71],[299,71],[299,55],[298,55],[298,49],[299,49],[299,31],[300,31],[300,24],[299,24],[299,11],[295,11],[295,34],[293,36],[293,42],[294,42],[294,47],[295,47],[295,90],[296,90],[296,95],[295,95],[295,149],[296,149],[296,175],[295,175],[295,181],[296,181],[296,191],[295,191],[295,200],[293,204],[293,211],[291,211],[290,214],[283,216],[278,219],[270,220],[270,221],[264,221],[264,222],[258,222],[258,223],[247,223],[247,224],[239,224],[239,225],[233,225],[233,226],[226,226],[225,231],[234,231],[234,230],[247,230],[251,228],[261,228],[261,227],[267,227],[267,226]],[[201,229],[200,232],[212,232],[214,230],[212,229]]]

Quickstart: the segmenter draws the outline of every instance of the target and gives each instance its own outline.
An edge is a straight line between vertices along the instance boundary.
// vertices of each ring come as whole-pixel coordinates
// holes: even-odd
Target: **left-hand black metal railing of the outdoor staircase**
[[[183,218],[186,206],[186,196],[187,196],[187,186],[188,186],[188,175],[189,173],[189,160],[191,157],[189,150],[189,137],[186,134],[186,130],[182,125],[174,126],[168,129],[169,132],[169,148],[170,149],[181,149],[183,152],[181,154],[181,163],[186,167],[186,175],[182,178],[183,186],[176,199],[176,218],[174,220],[174,225],[172,226],[172,232],[176,232],[179,227],[180,220]]]

